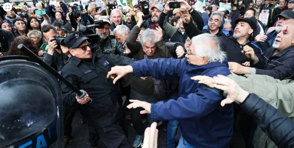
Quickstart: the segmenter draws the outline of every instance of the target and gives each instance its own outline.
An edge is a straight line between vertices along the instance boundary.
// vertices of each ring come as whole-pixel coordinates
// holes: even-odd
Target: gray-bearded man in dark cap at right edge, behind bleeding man
[[[273,47],[273,43],[277,34],[281,31],[281,28],[288,24],[294,22],[294,11],[292,10],[285,10],[281,14],[277,15],[278,22],[275,26],[275,30],[268,33],[267,35],[260,34],[255,37],[255,42],[262,50],[265,52],[270,47]]]

